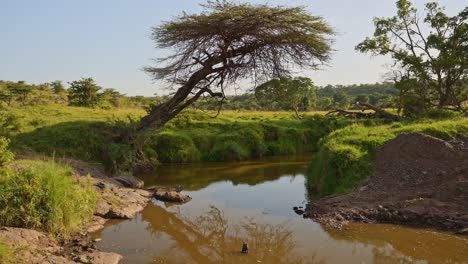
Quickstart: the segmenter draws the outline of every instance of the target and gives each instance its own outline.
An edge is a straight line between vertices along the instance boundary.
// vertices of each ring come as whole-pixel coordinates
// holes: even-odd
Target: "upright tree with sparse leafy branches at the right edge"
[[[375,32],[356,46],[360,52],[390,55],[400,68],[397,87],[426,106],[466,111],[468,101],[468,7],[456,16],[438,3],[422,18],[409,0],[398,0],[397,15],[375,18]],[[429,32],[425,32],[425,27]]]

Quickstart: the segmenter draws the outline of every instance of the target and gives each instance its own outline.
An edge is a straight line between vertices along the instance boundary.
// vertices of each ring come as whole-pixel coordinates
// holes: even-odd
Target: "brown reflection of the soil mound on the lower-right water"
[[[466,237],[429,229],[351,224],[328,233],[337,241],[373,246],[374,263],[468,263]]]

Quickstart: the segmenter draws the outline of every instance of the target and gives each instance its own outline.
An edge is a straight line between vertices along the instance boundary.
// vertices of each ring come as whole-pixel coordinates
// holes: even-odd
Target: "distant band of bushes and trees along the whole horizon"
[[[220,101],[207,97],[193,107],[203,110],[295,111],[351,109],[356,101],[380,107],[396,107],[398,90],[391,82],[317,87],[306,77],[272,79],[251,92],[226,95]],[[92,78],[68,83],[61,81],[27,84],[24,81],[0,80],[0,105],[24,106],[64,104],[79,107],[118,108],[138,107],[151,111],[170,100],[170,96],[126,96],[115,89],[104,89]],[[299,116],[299,114],[298,114]]]

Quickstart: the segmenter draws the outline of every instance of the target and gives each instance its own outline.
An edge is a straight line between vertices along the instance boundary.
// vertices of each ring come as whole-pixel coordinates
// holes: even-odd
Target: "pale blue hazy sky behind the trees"
[[[373,33],[373,17],[393,16],[395,0],[239,0],[304,6],[337,32],[329,65],[298,74],[317,85],[385,80],[390,60],[354,47]],[[150,40],[151,27],[183,11],[201,11],[201,0],[0,0],[0,79],[28,83],[92,77],[128,95],[167,93],[142,68],[164,51]],[[422,11],[426,0],[413,0]],[[440,0],[450,15],[468,0]],[[249,86],[242,83],[242,86]]]

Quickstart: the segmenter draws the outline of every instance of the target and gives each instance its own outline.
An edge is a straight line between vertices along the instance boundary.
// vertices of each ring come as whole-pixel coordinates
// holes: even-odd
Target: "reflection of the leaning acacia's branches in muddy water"
[[[287,223],[265,224],[246,218],[229,225],[224,212],[214,206],[202,215],[189,219],[180,212],[169,212],[150,204],[142,220],[153,235],[166,234],[174,242],[171,252],[154,259],[163,263],[320,263],[294,252],[295,241]],[[249,254],[242,254],[242,242],[249,244]],[[177,254],[184,252],[183,259]],[[180,255],[180,254],[179,254]]]

